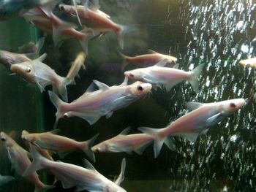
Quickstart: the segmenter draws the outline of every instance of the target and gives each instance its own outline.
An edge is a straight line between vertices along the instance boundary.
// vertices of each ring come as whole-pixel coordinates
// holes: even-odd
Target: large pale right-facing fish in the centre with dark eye
[[[97,85],[99,90],[91,91],[91,88]],[[99,120],[100,117],[105,116],[110,118],[113,111],[127,107],[134,101],[137,101],[142,96],[151,91],[150,83],[135,82],[127,85],[127,78],[121,85],[108,85],[93,80],[89,88],[75,101],[65,103],[61,101],[58,96],[52,91],[48,91],[50,101],[56,107],[56,123],[60,118],[70,118],[77,116],[83,118],[90,125]]]

